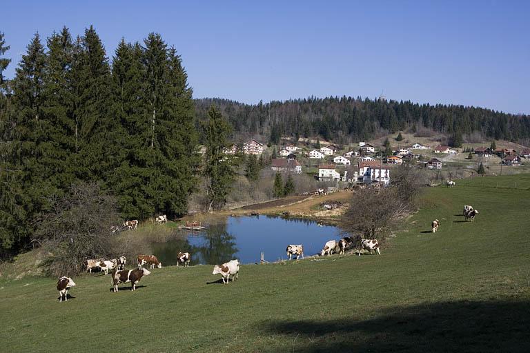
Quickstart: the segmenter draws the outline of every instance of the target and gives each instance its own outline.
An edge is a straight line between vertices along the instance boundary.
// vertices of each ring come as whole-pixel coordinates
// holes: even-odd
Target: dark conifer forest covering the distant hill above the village
[[[530,117],[463,105],[429,105],[360,97],[328,97],[249,105],[226,99],[196,99],[197,117],[215,103],[234,126],[235,139],[257,137],[277,143],[280,136],[314,137],[348,143],[384,132],[418,129],[447,134],[459,147],[462,137],[479,132],[489,139],[530,138]]]

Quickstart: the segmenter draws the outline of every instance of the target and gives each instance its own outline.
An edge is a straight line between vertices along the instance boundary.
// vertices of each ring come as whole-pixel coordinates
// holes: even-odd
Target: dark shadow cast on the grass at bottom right
[[[529,325],[529,301],[458,301],[368,320],[268,320],[256,330],[291,341],[269,352],[529,352]]]

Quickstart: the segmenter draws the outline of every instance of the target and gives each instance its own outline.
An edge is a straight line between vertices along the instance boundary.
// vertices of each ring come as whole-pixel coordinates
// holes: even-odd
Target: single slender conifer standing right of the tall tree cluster
[[[232,128],[214,105],[208,111],[210,119],[204,123],[206,155],[203,174],[206,178],[207,210],[217,210],[226,203],[235,178],[233,161],[224,154],[227,137]]]

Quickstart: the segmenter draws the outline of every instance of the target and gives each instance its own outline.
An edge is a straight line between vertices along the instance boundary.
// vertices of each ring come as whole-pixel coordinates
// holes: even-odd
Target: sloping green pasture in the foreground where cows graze
[[[530,191],[496,180],[530,187],[429,188],[381,256],[244,265],[228,285],[212,266],[155,269],[135,292],[79,276],[67,303],[53,279],[1,281],[0,351],[528,352]]]

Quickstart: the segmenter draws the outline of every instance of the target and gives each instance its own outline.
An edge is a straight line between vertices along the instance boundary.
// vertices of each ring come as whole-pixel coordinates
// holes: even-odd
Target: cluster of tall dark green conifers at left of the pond
[[[175,48],[154,33],[122,40],[110,65],[92,27],[63,28],[35,34],[9,81],[8,49],[0,33],[0,258],[28,246],[77,181],[99,183],[127,219],[186,212],[198,134]]]

